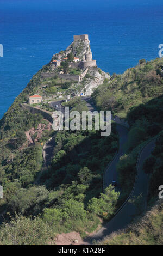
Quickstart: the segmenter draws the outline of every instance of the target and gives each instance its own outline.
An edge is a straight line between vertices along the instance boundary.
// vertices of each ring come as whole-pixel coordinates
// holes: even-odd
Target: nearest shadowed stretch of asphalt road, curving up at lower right
[[[134,188],[133,196],[137,197],[142,194],[141,199],[141,212],[146,210],[146,196],[147,196],[147,186],[148,186],[148,175],[143,172],[143,162],[146,158],[152,153],[155,147],[155,141],[149,142],[146,147],[142,150],[140,154],[140,159],[137,168],[137,180]],[[124,205],[124,207],[117,213],[115,217],[113,217],[105,227],[101,228],[95,235],[90,238],[87,237],[85,241],[89,241],[91,243],[93,240],[102,240],[104,237],[110,235],[112,232],[117,231],[119,229],[124,229],[128,224],[133,220],[135,214],[137,212],[136,204],[130,203],[130,200]]]

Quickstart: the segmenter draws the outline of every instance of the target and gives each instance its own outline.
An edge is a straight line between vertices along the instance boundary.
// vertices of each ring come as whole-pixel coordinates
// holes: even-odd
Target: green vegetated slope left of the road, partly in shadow
[[[101,218],[109,219],[114,214],[119,197],[112,186],[107,188],[105,194],[102,193],[103,169],[112,160],[118,147],[114,124],[109,137],[101,137],[100,132],[95,130],[59,132],[52,166],[42,173],[41,182],[35,184],[43,166],[41,143],[56,134],[43,133],[38,142],[18,149],[26,142],[25,132],[42,122],[40,114],[32,115],[24,111],[20,103],[27,101],[28,96],[36,92],[42,83],[41,71],[46,69],[48,65],[34,75],[0,121],[0,182],[4,188],[4,199],[0,206],[1,211],[4,209],[10,212],[9,216],[5,216],[10,224],[4,224],[1,231],[3,234],[7,227],[10,234],[14,228],[20,229],[15,238],[16,243],[21,239],[18,223],[25,225],[27,221],[30,229],[35,216],[38,225],[43,221],[45,228],[53,227],[53,234],[76,230],[84,237],[86,232],[98,227]],[[44,107],[47,109],[47,105]],[[70,107],[80,112],[87,110],[85,102],[78,99],[74,99]],[[17,217],[17,214],[21,214],[21,217]],[[8,243],[4,237],[3,243]]]

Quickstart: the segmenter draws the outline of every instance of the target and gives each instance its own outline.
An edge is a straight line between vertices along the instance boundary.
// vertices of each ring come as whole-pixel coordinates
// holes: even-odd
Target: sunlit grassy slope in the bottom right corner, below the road
[[[100,245],[162,245],[163,202],[158,202],[145,216],[99,242]]]

